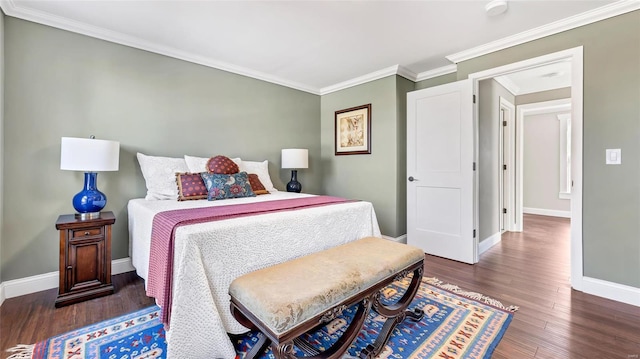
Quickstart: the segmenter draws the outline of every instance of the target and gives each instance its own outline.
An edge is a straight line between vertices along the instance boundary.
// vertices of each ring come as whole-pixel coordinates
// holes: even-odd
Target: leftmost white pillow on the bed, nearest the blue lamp
[[[147,186],[146,200],[178,199],[176,172],[189,172],[184,158],[137,154],[140,170]]]

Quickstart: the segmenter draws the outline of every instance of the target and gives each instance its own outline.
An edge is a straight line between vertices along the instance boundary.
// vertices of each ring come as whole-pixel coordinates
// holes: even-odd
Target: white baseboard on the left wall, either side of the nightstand
[[[130,272],[133,270],[135,270],[135,268],[131,264],[131,258],[115,259],[111,261],[112,275]],[[2,305],[4,299],[57,288],[59,280],[59,272],[56,271],[2,282],[2,284],[0,284],[0,305]]]

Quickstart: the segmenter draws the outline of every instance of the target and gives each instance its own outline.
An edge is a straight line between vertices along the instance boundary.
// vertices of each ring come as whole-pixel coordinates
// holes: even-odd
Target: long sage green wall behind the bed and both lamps
[[[120,141],[120,170],[98,176],[117,216],[114,259],[128,256],[127,201],[145,195],[138,151],[267,159],[284,189],[280,150],[308,148],[299,179],[320,192],[320,96],[11,17],[4,25],[12,175],[3,177],[2,281],[58,270],[54,223],[83,184],[82,173],[60,170],[63,136]]]

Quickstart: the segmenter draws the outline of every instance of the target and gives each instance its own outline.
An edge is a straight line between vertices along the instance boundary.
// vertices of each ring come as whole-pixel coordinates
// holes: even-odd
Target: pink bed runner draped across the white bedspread
[[[173,249],[176,228],[190,224],[219,221],[271,212],[290,211],[345,203],[350,200],[313,196],[228,206],[178,209],[160,212],[153,217],[147,295],[156,298],[162,308],[162,322],[168,327],[171,316]]]

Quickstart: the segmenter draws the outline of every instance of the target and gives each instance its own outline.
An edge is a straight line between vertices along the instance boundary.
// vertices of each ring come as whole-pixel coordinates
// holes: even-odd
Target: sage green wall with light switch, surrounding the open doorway
[[[457,79],[578,46],[584,49],[584,275],[640,287],[640,11],[458,64]],[[432,84],[421,82],[416,88]],[[607,166],[605,149],[622,149]]]

